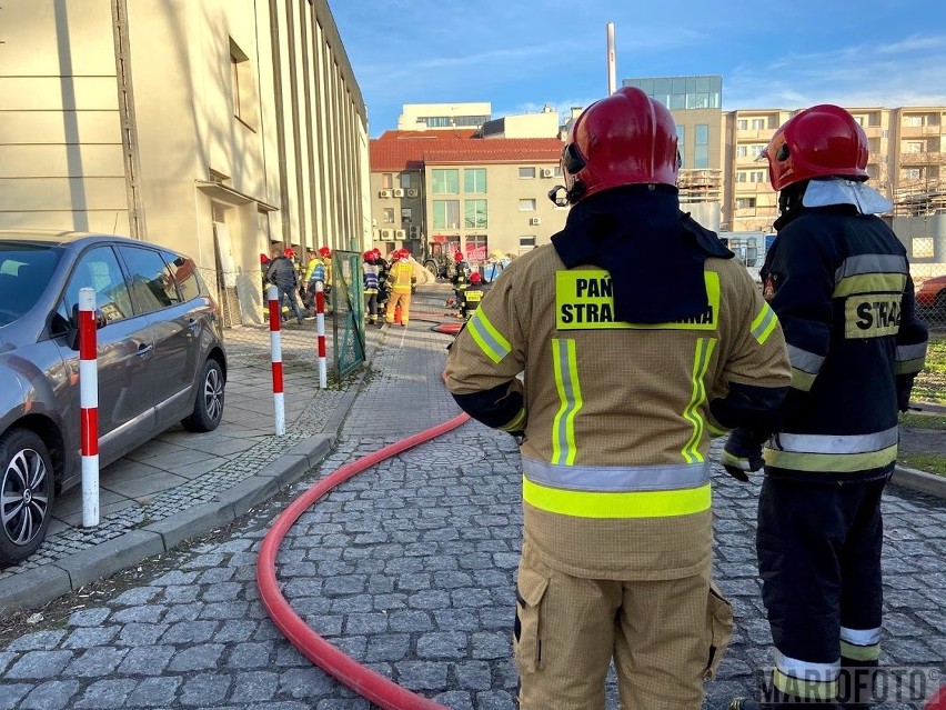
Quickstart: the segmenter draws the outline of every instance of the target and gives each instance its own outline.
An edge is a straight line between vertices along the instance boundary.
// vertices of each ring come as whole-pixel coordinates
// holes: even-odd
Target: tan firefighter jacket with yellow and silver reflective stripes
[[[452,393],[524,388],[499,428],[524,431],[524,533],[551,567],[641,580],[708,568],[710,438],[723,433],[708,401],[728,382],[787,387],[791,367],[745,267],[710,258],[705,281],[701,317],[615,322],[608,273],[566,269],[541,247],[509,266],[451,347]]]

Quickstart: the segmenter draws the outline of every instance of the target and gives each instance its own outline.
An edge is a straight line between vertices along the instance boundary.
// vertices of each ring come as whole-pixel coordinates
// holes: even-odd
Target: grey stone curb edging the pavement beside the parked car
[[[210,503],[195,506],[56,562],[0,580],[0,619],[19,609],[41,607],[84,584],[167,552],[190,538],[233,522],[318,466],[334,443],[333,434],[304,439]]]

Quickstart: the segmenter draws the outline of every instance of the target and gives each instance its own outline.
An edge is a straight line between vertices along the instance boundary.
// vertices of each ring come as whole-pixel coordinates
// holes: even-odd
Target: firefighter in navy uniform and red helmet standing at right
[[[785,331],[792,388],[774,432],[737,430],[724,454],[755,470],[772,434],[756,539],[772,678],[761,703],[731,709],[848,708],[869,701],[880,654],[880,494],[927,333],[906,251],[876,216],[890,203],[865,182],[867,138],[853,117],[806,109],[764,154],[781,217],[763,292]]]

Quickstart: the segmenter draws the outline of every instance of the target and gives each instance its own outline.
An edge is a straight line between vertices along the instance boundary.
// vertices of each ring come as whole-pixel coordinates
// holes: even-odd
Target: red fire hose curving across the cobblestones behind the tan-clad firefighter
[[[263,601],[263,607],[266,613],[270,614],[273,623],[276,624],[276,628],[282,631],[283,636],[289,639],[289,642],[299,649],[305,658],[336,680],[343,682],[361,697],[384,708],[384,710],[446,710],[446,708],[433,700],[413,693],[384,678],[384,676],[365,668],[315,633],[293,611],[285,597],[282,596],[275,574],[276,552],[279,551],[282,539],[299,517],[335,486],[384,459],[389,459],[419,443],[456,429],[469,419],[469,414],[459,414],[436,427],[395,441],[356,461],[346,463],[333,473],[330,473],[296,498],[276,518],[272,528],[270,528],[265,538],[263,538],[263,544],[260,548],[260,557],[256,561],[256,586],[260,588],[260,598]]]

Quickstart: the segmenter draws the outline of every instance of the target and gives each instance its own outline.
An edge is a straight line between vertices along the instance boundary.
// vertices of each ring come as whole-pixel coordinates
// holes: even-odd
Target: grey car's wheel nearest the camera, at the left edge
[[[37,551],[52,519],[52,462],[42,439],[28,429],[0,437],[0,568]]]

